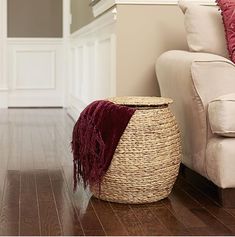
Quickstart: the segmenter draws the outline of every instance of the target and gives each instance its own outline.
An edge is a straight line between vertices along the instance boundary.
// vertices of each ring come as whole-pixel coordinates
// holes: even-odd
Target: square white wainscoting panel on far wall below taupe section
[[[63,106],[61,39],[8,40],[8,106]]]

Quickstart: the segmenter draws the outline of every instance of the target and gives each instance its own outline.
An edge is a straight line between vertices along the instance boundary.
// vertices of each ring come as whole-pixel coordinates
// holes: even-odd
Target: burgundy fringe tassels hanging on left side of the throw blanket
[[[84,115],[75,124],[71,145],[74,157],[74,191],[80,178],[83,180],[84,188],[88,184],[100,186],[101,177],[104,176],[102,166],[105,163],[105,145],[89,117]]]

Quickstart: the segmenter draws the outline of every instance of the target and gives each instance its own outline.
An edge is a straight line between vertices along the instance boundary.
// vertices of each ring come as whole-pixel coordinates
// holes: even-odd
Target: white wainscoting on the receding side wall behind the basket
[[[68,113],[116,95],[116,19],[110,11],[71,36]]]

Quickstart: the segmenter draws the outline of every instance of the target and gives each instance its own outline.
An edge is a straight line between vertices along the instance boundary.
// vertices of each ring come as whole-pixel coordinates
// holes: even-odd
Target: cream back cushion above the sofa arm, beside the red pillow
[[[223,20],[217,6],[201,6],[179,1],[189,50],[213,53],[228,58]]]

